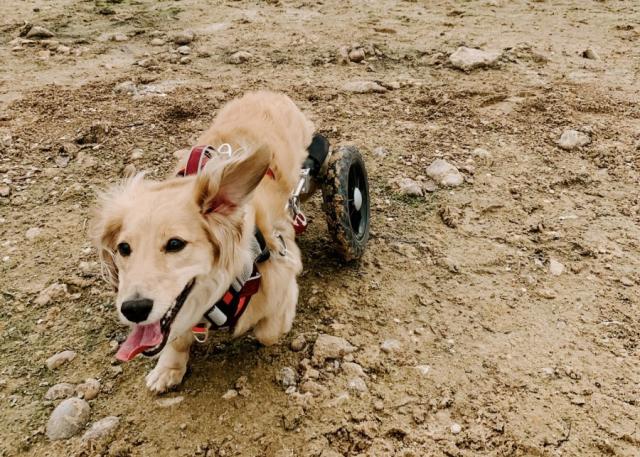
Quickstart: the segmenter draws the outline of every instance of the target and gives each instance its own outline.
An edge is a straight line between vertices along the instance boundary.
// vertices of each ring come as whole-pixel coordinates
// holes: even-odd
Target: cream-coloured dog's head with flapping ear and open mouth
[[[246,257],[245,205],[269,162],[257,150],[212,160],[198,176],[139,174],[100,197],[92,236],[118,315],[132,326],[118,358],[158,353],[229,287]]]

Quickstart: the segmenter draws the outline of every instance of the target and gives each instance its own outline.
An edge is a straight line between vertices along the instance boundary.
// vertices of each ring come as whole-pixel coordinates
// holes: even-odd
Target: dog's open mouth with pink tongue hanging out
[[[184,286],[173,306],[162,316],[162,319],[153,324],[135,325],[127,339],[120,345],[116,358],[128,362],[140,353],[147,357],[153,357],[162,351],[167,344],[169,333],[171,333],[171,324],[173,324],[184,302],[187,301],[195,283],[196,280],[192,279]]]

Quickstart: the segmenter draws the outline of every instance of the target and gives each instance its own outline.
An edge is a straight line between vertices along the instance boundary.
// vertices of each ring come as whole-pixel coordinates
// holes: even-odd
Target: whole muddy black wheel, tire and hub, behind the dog
[[[354,146],[342,146],[329,158],[322,180],[322,208],[340,256],[356,260],[369,240],[369,182],[364,160]]]

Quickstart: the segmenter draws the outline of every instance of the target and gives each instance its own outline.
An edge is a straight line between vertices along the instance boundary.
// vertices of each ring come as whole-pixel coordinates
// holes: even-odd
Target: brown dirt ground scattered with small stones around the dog
[[[1,456],[640,455],[637,1],[24,0],[0,13]],[[25,22],[54,36],[20,38]],[[187,29],[183,58],[171,37]],[[354,45],[364,61],[342,64]],[[448,61],[462,45],[501,57],[462,72]],[[345,90],[362,80],[390,90]],[[157,397],[153,361],[113,357],[125,329],[87,238],[95,193],[128,165],[164,176],[225,101],[262,88],[364,154],[367,253],[341,264],[311,201],[290,334],[270,348],[217,335]],[[560,149],[566,129],[590,144]],[[436,158],[465,183],[403,195],[397,178],[426,183]],[[43,298],[51,284],[66,292]],[[323,333],[358,349],[314,367]],[[49,370],[62,350],[77,357]],[[50,441],[47,389],[89,377],[89,425],[118,427]]]

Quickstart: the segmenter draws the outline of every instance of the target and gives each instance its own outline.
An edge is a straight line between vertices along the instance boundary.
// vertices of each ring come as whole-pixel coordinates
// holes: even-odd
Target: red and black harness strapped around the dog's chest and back
[[[187,165],[177,175],[190,176],[199,174],[214,153],[230,157],[232,148],[229,144],[223,144],[219,148],[195,146],[191,149]],[[271,179],[275,179],[275,174],[271,169],[267,170],[266,175]],[[253,263],[245,267],[240,276],[233,280],[222,298],[204,313],[203,321],[192,328],[196,341],[204,343],[209,329],[228,328],[232,331],[238,319],[247,309],[251,297],[260,289],[261,274],[258,271],[258,264],[269,260],[271,252],[267,247],[264,235],[258,227],[255,229],[252,250],[254,253]]]

